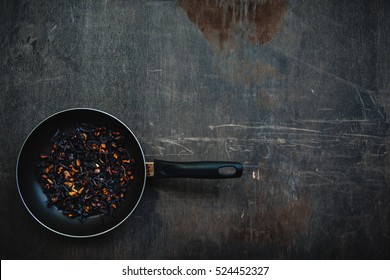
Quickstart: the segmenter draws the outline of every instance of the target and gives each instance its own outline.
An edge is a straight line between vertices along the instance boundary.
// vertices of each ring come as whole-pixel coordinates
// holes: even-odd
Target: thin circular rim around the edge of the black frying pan
[[[66,113],[66,112],[69,112],[69,111],[77,111],[77,110],[84,110],[84,111],[94,111],[94,112],[97,112],[97,113],[101,113],[101,114],[104,114],[104,115],[107,115],[113,119],[115,119],[116,121],[118,121],[120,124],[122,124],[130,133],[131,135],[133,136],[133,138],[135,139],[135,141],[137,142],[137,145],[140,149],[140,152],[141,152],[141,155],[142,155],[142,159],[143,159],[143,165],[144,165],[144,180],[143,180],[143,185],[142,185],[142,190],[141,190],[141,193],[139,195],[139,198],[137,200],[137,202],[135,203],[133,209],[128,213],[128,215],[126,217],[124,217],[121,221],[119,221],[117,224],[115,224],[114,226],[110,227],[109,229],[106,229],[104,231],[100,231],[98,233],[94,233],[94,234],[88,234],[88,235],[73,235],[73,234],[67,234],[67,233],[64,233],[64,232],[61,232],[61,231],[58,231],[58,230],[55,230],[53,228],[51,228],[50,226],[46,225],[45,223],[43,223],[42,221],[40,221],[35,215],[34,213],[30,210],[30,208],[28,207],[28,205],[26,204],[24,198],[23,198],[23,195],[22,195],[22,192],[20,190],[20,186],[19,186],[19,161],[20,161],[20,157],[22,155],[22,151],[24,149],[24,146],[26,145],[28,139],[31,137],[31,135],[38,129],[38,127],[40,127],[44,122],[46,122],[47,120],[49,120],[50,118],[56,116],[56,115],[59,115],[59,114],[62,114],[62,113]],[[34,219],[40,223],[42,226],[44,226],[46,229],[56,233],[56,234],[59,234],[59,235],[62,235],[62,236],[66,236],[66,237],[72,237],[72,238],[89,238],[89,237],[95,237],[95,236],[99,236],[99,235],[103,235],[115,228],[117,228],[118,226],[120,226],[124,221],[126,221],[130,215],[133,213],[133,211],[137,208],[139,202],[141,201],[141,198],[142,198],[142,195],[144,193],[144,190],[145,190],[145,185],[146,185],[146,161],[145,161],[145,154],[144,154],[144,151],[142,149],[142,146],[140,144],[140,142],[138,141],[138,138],[135,136],[135,134],[133,133],[133,131],[123,122],[121,121],[119,118],[115,117],[114,115],[108,113],[108,112],[105,112],[103,110],[99,110],[99,109],[95,109],[95,108],[89,108],[89,107],[74,107],[74,108],[69,108],[69,109],[65,109],[65,110],[61,110],[61,111],[58,111],[54,114],[51,114],[50,116],[46,117],[45,119],[43,119],[42,121],[40,121],[31,131],[30,133],[27,135],[27,137],[24,139],[23,141],[23,144],[22,146],[20,147],[20,150],[19,150],[19,153],[18,153],[18,157],[17,157],[17,160],[16,160],[16,185],[17,185],[17,189],[18,189],[18,193],[19,193],[19,196],[25,206],[25,208],[27,209],[27,211],[30,213],[30,215],[32,217],[34,217]]]

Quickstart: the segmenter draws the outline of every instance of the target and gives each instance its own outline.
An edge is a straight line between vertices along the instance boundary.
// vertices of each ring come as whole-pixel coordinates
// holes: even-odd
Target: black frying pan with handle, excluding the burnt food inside
[[[73,131],[78,124],[88,123],[121,132],[124,147],[135,159],[134,181],[117,208],[115,215],[95,215],[84,223],[70,219],[56,207],[47,207],[47,197],[35,176],[42,153],[50,151],[50,139],[60,129]],[[58,112],[43,120],[24,141],[16,165],[16,181],[20,197],[30,214],[47,229],[69,237],[92,237],[106,233],[123,223],[137,207],[145,188],[147,176],[155,178],[236,178],[241,177],[242,165],[237,162],[145,162],[141,145],[133,132],[116,117],[96,109],[75,108]]]

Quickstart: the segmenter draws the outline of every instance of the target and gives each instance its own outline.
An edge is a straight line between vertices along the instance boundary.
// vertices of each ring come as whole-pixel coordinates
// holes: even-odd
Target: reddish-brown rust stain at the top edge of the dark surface
[[[218,48],[234,48],[243,39],[260,44],[271,41],[287,11],[283,0],[180,0],[179,6]]]

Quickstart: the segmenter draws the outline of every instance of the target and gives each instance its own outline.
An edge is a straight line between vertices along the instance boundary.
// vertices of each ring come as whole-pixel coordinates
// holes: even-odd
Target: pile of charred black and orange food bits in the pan
[[[47,206],[81,222],[92,215],[113,215],[134,180],[135,162],[123,141],[120,132],[104,126],[57,130],[36,171]]]

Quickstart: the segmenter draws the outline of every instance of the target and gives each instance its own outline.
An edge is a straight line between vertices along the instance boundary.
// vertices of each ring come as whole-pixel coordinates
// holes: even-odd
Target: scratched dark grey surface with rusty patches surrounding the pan
[[[1,1],[2,259],[390,257],[390,2]],[[149,180],[114,231],[58,236],[19,198],[28,133],[71,107],[153,158],[236,180]]]

